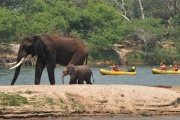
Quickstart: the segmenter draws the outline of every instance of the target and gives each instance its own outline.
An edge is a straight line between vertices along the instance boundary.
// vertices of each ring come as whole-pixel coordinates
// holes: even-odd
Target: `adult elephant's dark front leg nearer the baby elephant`
[[[55,85],[55,76],[54,76],[55,64],[51,63],[46,65],[46,67],[47,67],[49,82],[51,85]]]

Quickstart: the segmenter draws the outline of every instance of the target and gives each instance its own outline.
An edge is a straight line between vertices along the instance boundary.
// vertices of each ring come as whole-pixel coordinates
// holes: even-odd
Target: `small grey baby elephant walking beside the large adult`
[[[62,83],[64,84],[64,76],[70,75],[69,84],[92,84],[91,76],[93,78],[92,70],[87,65],[68,65],[62,72]],[[93,78],[94,83],[94,78]]]

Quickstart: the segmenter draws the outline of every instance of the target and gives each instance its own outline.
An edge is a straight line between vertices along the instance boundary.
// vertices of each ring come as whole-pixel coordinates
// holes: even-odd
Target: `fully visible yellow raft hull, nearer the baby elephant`
[[[106,70],[106,69],[100,69],[99,72],[102,75],[136,75],[136,72],[112,71],[112,70]]]

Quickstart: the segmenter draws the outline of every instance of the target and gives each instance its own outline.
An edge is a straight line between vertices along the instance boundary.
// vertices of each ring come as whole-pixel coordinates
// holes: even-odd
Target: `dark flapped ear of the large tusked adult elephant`
[[[35,55],[41,56],[45,59],[45,44],[43,42],[43,37],[40,35],[33,36],[33,45]]]

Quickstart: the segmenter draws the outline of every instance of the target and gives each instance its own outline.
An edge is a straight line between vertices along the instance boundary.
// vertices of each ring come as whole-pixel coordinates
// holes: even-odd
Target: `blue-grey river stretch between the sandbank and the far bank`
[[[108,67],[103,67],[107,68]],[[180,85],[180,74],[152,74],[152,66],[138,66],[137,75],[118,75],[109,76],[101,75],[98,67],[93,67],[93,74],[95,84],[128,84],[128,85]],[[61,73],[64,67],[57,67],[55,69],[56,84],[62,84]],[[125,69],[125,68],[124,68]],[[22,67],[16,85],[33,85],[34,84],[34,67]],[[7,68],[0,68],[0,85],[9,85],[14,75],[14,70]],[[65,84],[68,84],[69,76],[65,77]],[[43,71],[41,84],[49,84],[49,79],[46,69]]]

